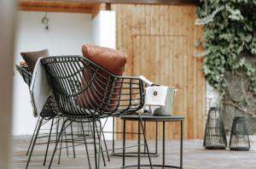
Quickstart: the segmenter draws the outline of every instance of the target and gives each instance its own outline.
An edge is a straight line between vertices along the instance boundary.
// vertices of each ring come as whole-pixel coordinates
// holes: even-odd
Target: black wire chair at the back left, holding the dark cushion
[[[19,65],[15,65],[15,66],[16,66],[16,69],[20,72],[20,75],[23,77],[24,82],[26,82],[28,87],[30,87],[31,82],[32,82],[31,70],[28,67],[25,67],[25,66],[24,67],[20,67]],[[74,90],[74,88],[77,88],[77,87],[72,86],[73,90]],[[26,155],[28,155],[29,150],[32,148],[31,149],[31,153],[29,155],[29,159],[28,159],[27,164],[26,164],[26,167],[28,167],[28,164],[30,162],[33,148],[37,144],[37,139],[49,136],[49,140],[46,143],[47,144],[47,149],[46,149],[46,153],[45,153],[45,157],[44,157],[44,165],[45,165],[46,158],[47,158],[47,153],[48,153],[48,149],[49,149],[49,144],[50,143],[55,143],[55,141],[50,141],[50,137],[51,137],[51,135],[53,135],[52,134],[53,126],[56,126],[56,133],[55,133],[56,138],[55,138],[55,140],[57,140],[57,134],[59,132],[58,131],[59,130],[59,121],[61,121],[61,120],[64,121],[63,115],[61,115],[61,111],[58,109],[58,107],[57,107],[57,105],[55,103],[55,98],[51,94],[49,96],[49,99],[47,99],[46,104],[44,104],[44,109],[42,110],[42,112],[40,114],[40,117],[38,118],[37,125],[36,125],[36,127],[34,129],[34,132],[32,134],[32,139],[31,139],[31,142],[29,144],[29,148],[27,149],[27,152],[26,152]],[[47,124],[49,121],[52,121],[51,122],[51,126],[50,126],[50,131],[44,133],[44,136],[40,136],[39,137],[38,136],[39,135],[39,131],[42,130],[41,127],[44,126],[44,124]],[[92,127],[91,127],[90,124],[87,124],[87,127],[88,127],[87,130],[84,130],[84,127],[86,127],[84,125],[74,126],[74,127],[78,127],[78,129],[81,128],[81,130],[82,130],[81,132],[82,133],[81,132],[74,132],[73,131],[73,123],[71,123],[69,126],[70,126],[70,132],[66,133],[66,131],[64,131],[64,137],[65,138],[62,138],[63,136],[61,134],[61,148],[60,148],[60,152],[59,152],[58,164],[60,164],[60,161],[61,161],[61,149],[66,148],[67,149],[67,156],[68,156],[68,147],[70,147],[70,146],[67,146],[67,143],[72,143],[73,144],[73,146],[72,146],[73,147],[73,157],[75,157],[75,149],[74,149],[75,144],[80,145],[81,140],[84,140],[84,142],[86,142],[85,138],[89,138],[89,137],[88,136],[86,137],[85,132],[87,132],[90,135],[92,135],[92,130],[91,130]],[[97,126],[96,126],[96,129],[97,129]],[[68,139],[67,135],[71,135],[71,139]],[[79,137],[82,137],[82,138],[78,137],[78,138],[74,139],[74,135],[78,135]],[[107,148],[107,144],[106,144],[106,140],[105,140],[104,134],[102,136],[103,136],[103,141],[104,141],[105,149],[106,149],[107,156],[108,156],[108,161],[110,161],[109,155],[108,155],[108,148]],[[62,147],[62,143],[66,143],[66,147]],[[39,144],[44,144],[44,143],[39,143]],[[87,144],[85,145],[85,148],[86,148],[86,152],[88,154]],[[102,159],[104,161],[104,166],[106,166],[105,157],[104,157],[103,153],[102,153]]]

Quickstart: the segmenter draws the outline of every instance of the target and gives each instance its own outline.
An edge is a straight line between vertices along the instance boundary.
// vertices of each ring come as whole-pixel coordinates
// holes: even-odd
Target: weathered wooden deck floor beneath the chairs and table
[[[172,132],[172,131],[171,131]],[[24,141],[15,141],[14,153],[13,153],[13,168],[15,169],[24,169],[26,166],[26,161],[28,156],[26,156],[26,149],[28,147],[29,142]],[[107,142],[108,149],[111,149],[111,142]],[[137,144],[136,140],[127,141],[127,145],[135,145]],[[154,141],[149,141],[149,149],[154,152]],[[34,149],[34,153],[32,155],[32,160],[28,168],[30,169],[46,169],[49,165],[49,159],[52,155],[53,145],[51,144],[49,147],[48,161],[46,161],[46,165],[43,166],[44,161],[44,153],[46,149],[46,145],[37,145]],[[71,144],[69,144],[71,145]],[[256,161],[256,151],[230,151],[224,149],[203,149],[202,141],[195,140],[185,140],[183,143],[183,168],[186,169],[255,169]],[[122,142],[116,142],[116,147],[122,147]],[[252,144],[253,149],[255,148],[255,142]],[[93,145],[89,144],[89,155],[90,162],[92,168],[95,164],[94,157],[94,149]],[[151,161],[153,164],[161,164],[162,162],[162,144],[159,142],[158,144],[158,152],[159,156],[152,157]],[[170,164],[173,166],[178,166],[179,162],[179,141],[178,140],[168,140],[166,141],[166,164]],[[130,149],[126,149],[126,152],[129,151],[137,151],[137,147],[133,147]],[[142,148],[143,151],[143,148]],[[122,152],[121,149],[117,152]],[[76,147],[75,149],[76,158],[73,158],[73,149],[69,148],[69,157],[67,157],[66,149],[63,149],[61,153],[61,164],[57,164],[58,153],[56,153],[54,162],[51,166],[52,169],[84,169],[89,168],[87,162],[87,156],[85,155],[84,144]],[[107,155],[105,155],[107,158]],[[148,158],[141,158],[142,164],[148,164]],[[137,164],[137,158],[134,157],[126,157],[125,164]],[[103,166],[103,162],[101,159],[101,168],[104,169],[118,169],[122,166],[122,158],[110,156],[110,161],[107,161],[107,166]],[[132,167],[131,169],[136,169],[137,167]],[[148,168],[148,167],[142,167]],[[157,169],[160,167],[154,167]]]

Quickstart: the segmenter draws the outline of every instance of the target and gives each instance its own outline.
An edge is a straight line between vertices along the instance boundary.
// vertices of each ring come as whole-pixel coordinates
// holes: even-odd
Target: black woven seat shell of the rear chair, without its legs
[[[20,75],[22,76],[24,82],[30,87],[32,82],[32,72],[28,67],[20,67],[19,65],[15,65],[16,70],[19,71]],[[57,105],[55,104],[55,98],[53,95],[49,96],[47,99],[46,104],[44,104],[44,109],[41,112],[41,116],[44,119],[49,119],[55,117],[55,115],[59,115],[60,110],[58,109]]]

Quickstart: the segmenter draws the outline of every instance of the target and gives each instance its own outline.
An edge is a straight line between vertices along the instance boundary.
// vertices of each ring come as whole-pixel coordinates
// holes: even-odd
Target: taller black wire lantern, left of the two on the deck
[[[208,111],[203,146],[206,149],[225,149],[227,146],[224,123],[219,107],[211,107]]]

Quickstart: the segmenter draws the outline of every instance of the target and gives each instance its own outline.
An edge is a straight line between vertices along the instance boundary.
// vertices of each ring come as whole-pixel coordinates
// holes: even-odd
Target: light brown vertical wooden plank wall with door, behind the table
[[[113,4],[112,9],[116,11],[117,48],[128,56],[125,75],[144,75],[153,82],[177,87],[174,114],[186,118],[184,138],[203,138],[206,91],[202,59],[194,57],[200,50],[195,41],[202,32],[195,25],[195,6]],[[134,122],[127,127],[129,132],[137,132]],[[121,121],[116,128],[122,129]],[[161,125],[159,128],[162,130]],[[167,128],[167,138],[179,137],[178,124]],[[148,123],[148,138],[154,138],[154,130],[154,123]]]

